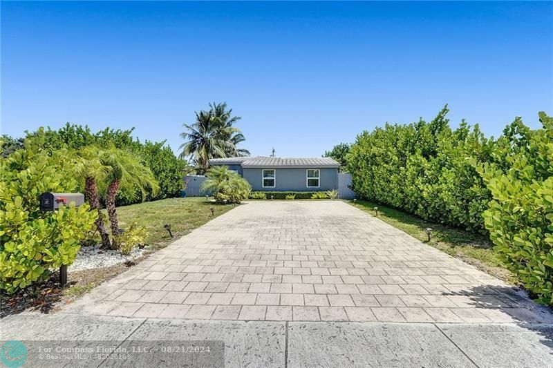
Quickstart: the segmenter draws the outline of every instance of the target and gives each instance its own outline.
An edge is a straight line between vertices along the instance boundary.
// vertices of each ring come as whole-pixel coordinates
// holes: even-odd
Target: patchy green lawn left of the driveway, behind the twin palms
[[[165,224],[171,224],[171,232],[176,240],[212,220],[210,209],[218,216],[232,208],[230,204],[208,202],[205,197],[169,198],[118,207],[117,215],[122,229],[129,227],[133,221],[145,226],[149,233],[147,244],[157,248],[171,242],[169,233],[163,227]]]

